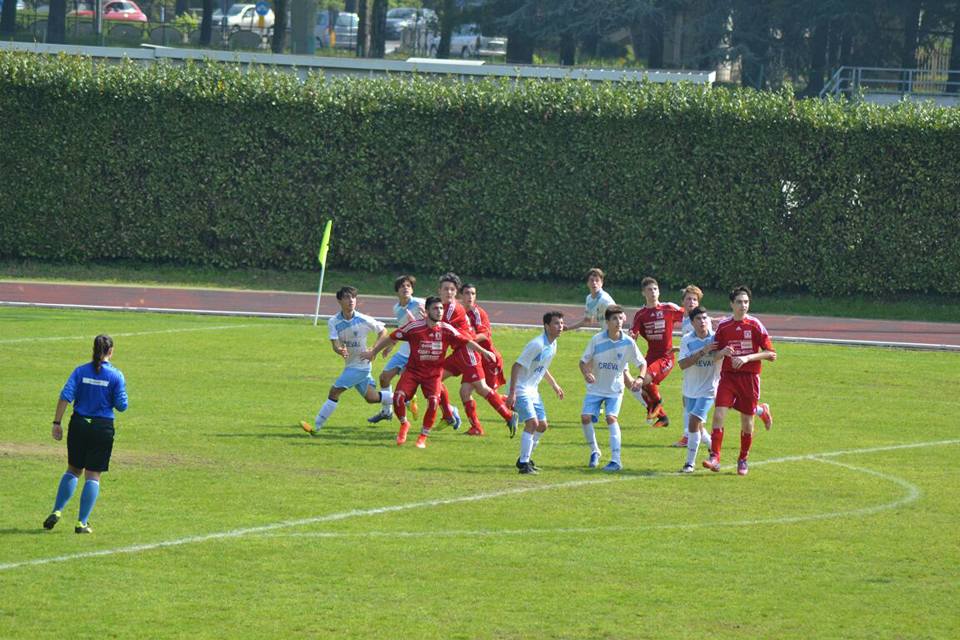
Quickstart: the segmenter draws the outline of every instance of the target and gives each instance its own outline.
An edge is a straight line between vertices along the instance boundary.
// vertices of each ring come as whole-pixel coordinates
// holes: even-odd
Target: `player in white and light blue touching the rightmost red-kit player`
[[[687,320],[693,331],[685,333],[680,340],[678,363],[683,370],[683,406],[684,416],[687,417],[683,438],[686,441],[687,461],[681,473],[693,473],[701,440],[708,449],[711,446],[710,436],[703,425],[717,395],[720,363],[724,356],[731,353],[730,347],[717,351],[706,309],[694,307],[687,314]]]

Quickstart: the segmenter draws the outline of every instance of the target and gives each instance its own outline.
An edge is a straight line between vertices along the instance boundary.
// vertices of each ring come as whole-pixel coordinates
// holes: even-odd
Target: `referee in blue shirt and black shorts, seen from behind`
[[[88,522],[93,505],[100,494],[100,474],[110,466],[113,451],[113,410],[127,408],[127,385],[120,370],[110,364],[113,340],[99,335],[93,339],[93,357],[90,362],[73,370],[60,392],[57,413],[51,435],[63,439],[60,421],[73,403],[70,429],[67,431],[67,471],[60,478],[53,513],[43,521],[44,529],[53,529],[60,521],[61,512],[73,497],[83,472],[86,482],[80,494],[80,515],[76,533],[91,533]]]

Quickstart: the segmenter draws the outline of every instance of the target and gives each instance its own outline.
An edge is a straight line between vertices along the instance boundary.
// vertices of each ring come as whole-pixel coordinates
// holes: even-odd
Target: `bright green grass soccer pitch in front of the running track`
[[[49,423],[99,332],[130,408],[93,535],[79,491],[46,532]],[[509,363],[534,335],[496,340]],[[780,345],[746,478],[735,424],[720,474],[680,476],[679,427],[628,397],[610,477],[577,417],[588,337],[560,338],[567,398],[544,385],[543,470],[520,476],[485,404],[486,438],[426,450],[353,392],[304,434],[340,370],[306,321],[0,308],[0,637],[960,636],[958,354]]]

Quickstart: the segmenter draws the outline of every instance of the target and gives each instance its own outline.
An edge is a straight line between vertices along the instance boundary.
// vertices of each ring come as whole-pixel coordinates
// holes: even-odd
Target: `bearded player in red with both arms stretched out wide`
[[[461,333],[452,325],[443,322],[443,303],[440,298],[430,296],[424,302],[427,317],[423,320],[410,322],[395,329],[390,335],[377,340],[373,349],[363,357],[373,360],[377,353],[398,340],[410,343],[410,359],[400,374],[397,391],[393,394],[393,410],[400,420],[400,431],[397,434],[397,444],[407,441],[410,423],[407,421],[406,400],[417,392],[417,387],[423,389],[427,398],[427,410],[423,413],[423,428],[417,437],[417,448],[427,446],[427,436],[433,428],[437,417],[437,406],[440,403],[440,388],[443,387],[443,365],[446,359],[447,347],[461,348],[470,345],[475,351],[488,360],[496,360],[496,356],[481,347],[468,335]],[[476,354],[474,354],[476,355]]]

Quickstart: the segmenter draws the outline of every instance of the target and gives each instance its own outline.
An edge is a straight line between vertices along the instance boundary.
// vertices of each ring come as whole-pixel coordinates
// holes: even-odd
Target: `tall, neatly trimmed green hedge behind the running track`
[[[960,112],[0,53],[0,256],[960,293]]]

